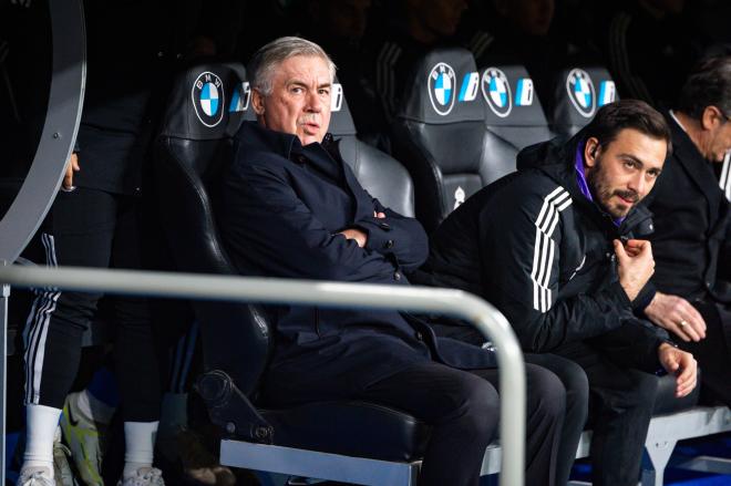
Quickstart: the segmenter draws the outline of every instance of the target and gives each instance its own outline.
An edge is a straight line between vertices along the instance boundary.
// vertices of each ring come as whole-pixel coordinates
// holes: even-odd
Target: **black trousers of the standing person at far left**
[[[37,265],[143,268],[143,217],[136,198],[79,187],[59,193],[24,252]],[[82,334],[101,293],[34,289],[24,330],[25,403],[63,407],[81,356]],[[161,386],[147,299],[114,297],[115,368],[125,421],[159,417]]]

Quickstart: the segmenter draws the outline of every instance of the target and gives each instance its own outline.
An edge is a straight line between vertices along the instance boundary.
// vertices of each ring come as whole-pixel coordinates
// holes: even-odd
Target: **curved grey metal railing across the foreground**
[[[460,290],[425,287],[375,286],[311,280],[204,276],[195,273],[0,268],[0,282],[20,287],[58,287],[68,290],[234,300],[261,303],[297,303],[330,307],[441,312],[473,322],[496,348],[500,369],[503,447],[501,484],[523,485],[525,464],[525,365],[505,317],[484,300]]]

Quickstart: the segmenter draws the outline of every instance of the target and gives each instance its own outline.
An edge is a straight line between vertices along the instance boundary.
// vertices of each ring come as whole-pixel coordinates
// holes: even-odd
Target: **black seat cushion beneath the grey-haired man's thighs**
[[[423,456],[431,427],[413,416],[367,402],[318,402],[262,410],[276,445],[381,461]]]

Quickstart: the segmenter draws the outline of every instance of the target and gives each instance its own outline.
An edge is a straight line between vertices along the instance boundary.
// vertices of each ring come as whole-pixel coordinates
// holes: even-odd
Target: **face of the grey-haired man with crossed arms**
[[[251,102],[259,123],[297,135],[302,145],[322,142],[330,125],[332,79],[325,59],[296,55],[281,62],[271,76],[271,94],[254,90]]]

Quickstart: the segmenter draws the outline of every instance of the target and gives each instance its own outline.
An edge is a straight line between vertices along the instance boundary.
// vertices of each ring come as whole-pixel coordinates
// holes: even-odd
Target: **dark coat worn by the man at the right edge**
[[[729,283],[717,278],[719,258],[729,250],[729,201],[711,163],[673,120],[668,124],[673,152],[649,196],[656,226],[652,282],[688,300],[731,302]]]

